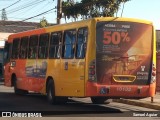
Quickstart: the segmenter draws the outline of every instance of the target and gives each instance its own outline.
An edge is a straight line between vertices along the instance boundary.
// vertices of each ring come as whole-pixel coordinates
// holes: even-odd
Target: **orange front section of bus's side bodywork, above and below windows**
[[[15,39],[15,38],[21,38],[24,36],[30,36],[30,35],[35,35],[35,34],[38,35],[38,34],[42,34],[42,33],[45,33],[44,28],[12,34],[8,38],[8,43],[12,43],[13,39]],[[17,79],[17,87],[18,88],[22,88],[22,89],[26,89],[26,90],[33,90],[34,84],[32,84],[30,82],[30,86],[29,86],[28,85],[29,81],[30,81],[29,79],[35,80],[36,78],[27,78],[26,77],[25,67],[26,67],[27,61],[28,61],[28,59],[21,59],[21,60],[20,59],[10,59],[10,61],[5,64],[4,78],[5,78],[5,85],[6,86],[13,86],[12,75],[16,75],[16,77],[18,78]],[[12,64],[15,64],[15,66],[12,66]],[[39,90],[36,90],[36,91],[39,91]]]

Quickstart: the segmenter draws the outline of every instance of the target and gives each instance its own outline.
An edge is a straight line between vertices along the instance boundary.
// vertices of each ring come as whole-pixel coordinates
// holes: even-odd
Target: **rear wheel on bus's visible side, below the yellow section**
[[[47,100],[50,104],[56,103],[55,88],[53,80],[49,80],[47,84]]]

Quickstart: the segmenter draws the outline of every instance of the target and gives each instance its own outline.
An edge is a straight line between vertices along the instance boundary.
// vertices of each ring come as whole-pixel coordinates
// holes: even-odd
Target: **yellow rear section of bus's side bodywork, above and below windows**
[[[90,30],[91,21],[79,22],[78,24],[55,25],[46,29],[46,32],[58,32],[87,27]],[[90,32],[88,42],[90,41]],[[87,43],[88,44],[88,43]],[[87,47],[88,49],[88,47]],[[88,51],[88,50],[87,50]],[[86,54],[87,55],[87,54]],[[47,76],[52,76],[55,84],[56,96],[85,97],[85,72],[86,59],[48,60]],[[56,69],[54,69],[56,68]],[[43,88],[42,93],[46,92]]]

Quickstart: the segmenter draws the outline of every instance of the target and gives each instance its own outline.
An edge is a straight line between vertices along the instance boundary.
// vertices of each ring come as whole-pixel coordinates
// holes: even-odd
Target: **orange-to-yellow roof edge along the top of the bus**
[[[135,19],[135,18],[123,18],[123,17],[97,17],[97,18],[91,18],[87,20],[82,20],[82,21],[77,21],[77,22],[71,22],[71,23],[65,23],[65,24],[58,24],[54,26],[49,26],[45,28],[39,28],[39,29],[34,29],[34,30],[29,30],[29,31],[24,31],[24,32],[19,32],[15,34],[11,34],[9,36],[9,39],[16,38],[16,37],[22,37],[22,36],[29,36],[29,35],[36,35],[36,34],[42,34],[46,32],[50,32],[54,29],[54,31],[60,31],[60,30],[65,30],[70,26],[70,29],[74,29],[75,25],[79,27],[83,27],[91,23],[92,21],[128,21],[128,22],[138,22],[138,23],[144,23],[144,24],[152,24],[151,21],[147,20],[141,20],[141,19]]]

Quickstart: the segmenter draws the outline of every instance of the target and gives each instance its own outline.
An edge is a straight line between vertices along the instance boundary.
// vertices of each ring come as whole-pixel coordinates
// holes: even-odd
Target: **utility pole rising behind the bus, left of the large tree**
[[[62,17],[62,0],[57,0],[57,24],[61,23]]]

